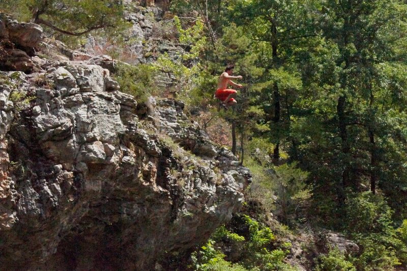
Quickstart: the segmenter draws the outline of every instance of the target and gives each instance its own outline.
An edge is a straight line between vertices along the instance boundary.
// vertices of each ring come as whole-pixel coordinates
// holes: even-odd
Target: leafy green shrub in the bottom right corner
[[[351,195],[346,208],[347,229],[362,253],[354,259],[358,268],[389,270],[407,255],[406,243],[397,236],[391,219],[393,211],[383,197],[370,192]]]

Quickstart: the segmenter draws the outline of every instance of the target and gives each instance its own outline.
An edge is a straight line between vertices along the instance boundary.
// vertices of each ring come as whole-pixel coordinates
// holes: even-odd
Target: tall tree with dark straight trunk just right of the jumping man
[[[286,132],[281,127],[284,122],[289,121],[289,113],[285,109],[289,111],[290,105],[284,106],[284,102],[290,99],[287,95],[282,95],[288,94],[289,90],[280,89],[281,84],[277,83],[274,75],[282,70],[294,70],[295,73],[292,57],[296,48],[306,47],[307,39],[316,36],[315,28],[312,27],[314,18],[309,12],[314,3],[301,0],[254,0],[236,1],[235,5],[236,10],[231,18],[236,19],[238,24],[245,25],[249,37],[257,42],[262,55],[261,63],[268,71],[263,81],[272,82],[264,85],[264,98],[266,101],[272,100],[272,104],[265,103],[264,106],[267,121],[273,126],[271,129],[277,131],[273,137],[273,158],[277,161],[280,157],[281,140]]]

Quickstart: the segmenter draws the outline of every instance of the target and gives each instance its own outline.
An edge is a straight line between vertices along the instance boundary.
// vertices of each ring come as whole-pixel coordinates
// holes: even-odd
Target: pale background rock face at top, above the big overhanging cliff
[[[131,26],[124,35],[122,48],[106,38],[89,35],[83,50],[92,56],[122,50],[122,60],[131,64],[153,63],[163,53],[172,61],[181,60],[190,51],[191,44],[178,42],[177,30],[172,22],[173,14],[168,11],[169,2],[124,1],[124,20]],[[170,85],[171,78],[165,75],[161,81],[164,85]]]

